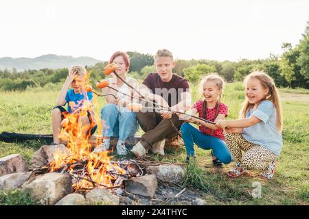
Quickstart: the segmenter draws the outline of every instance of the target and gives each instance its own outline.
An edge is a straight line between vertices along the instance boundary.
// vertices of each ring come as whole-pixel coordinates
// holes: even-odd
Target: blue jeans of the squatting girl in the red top
[[[183,137],[188,156],[194,155],[195,143],[201,149],[212,149],[213,155],[220,159],[223,164],[229,164],[233,159],[224,140],[206,135],[189,123],[183,123],[181,125],[181,136]]]

